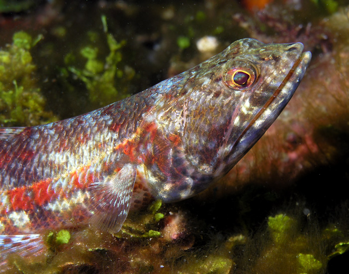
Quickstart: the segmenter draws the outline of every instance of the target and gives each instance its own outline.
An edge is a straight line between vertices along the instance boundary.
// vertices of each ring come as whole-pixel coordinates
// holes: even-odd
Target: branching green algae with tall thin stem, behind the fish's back
[[[102,16],[104,33],[109,48],[109,54],[101,60],[98,54],[100,49],[96,46],[86,45],[80,50],[81,56],[87,61],[84,68],[69,66],[68,70],[78,79],[83,81],[89,92],[89,100],[94,107],[102,107],[129,96],[127,89],[123,88],[121,83],[130,81],[135,71],[126,66],[124,69],[119,67],[122,60],[120,49],[126,44],[125,40],[117,42],[111,33],[108,33],[107,20]],[[97,33],[89,33],[90,40],[94,41]],[[65,63],[71,64],[74,56],[67,55]]]

